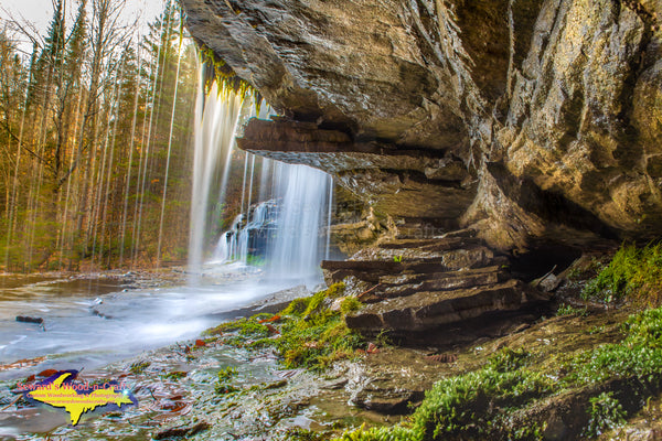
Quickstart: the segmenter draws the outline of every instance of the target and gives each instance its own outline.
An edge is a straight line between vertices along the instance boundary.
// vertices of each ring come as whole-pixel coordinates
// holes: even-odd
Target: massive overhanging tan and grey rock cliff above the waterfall
[[[660,1],[182,3],[284,115],[246,150],[501,249],[662,233]]]

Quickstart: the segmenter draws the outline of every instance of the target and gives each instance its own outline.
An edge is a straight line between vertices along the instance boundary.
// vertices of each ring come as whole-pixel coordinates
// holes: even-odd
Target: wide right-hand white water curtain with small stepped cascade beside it
[[[264,259],[268,279],[314,284],[320,261],[329,255],[331,176],[306,165],[274,166],[274,198],[235,217],[218,239],[213,262],[246,266]]]

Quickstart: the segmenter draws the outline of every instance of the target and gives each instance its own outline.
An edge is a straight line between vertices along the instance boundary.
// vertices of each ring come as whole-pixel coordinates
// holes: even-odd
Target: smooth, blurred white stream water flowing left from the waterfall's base
[[[194,338],[218,324],[218,314],[281,289],[255,277],[125,292],[130,278],[6,278],[2,282],[0,365],[45,356],[39,369],[94,368]],[[39,324],[17,322],[17,315],[42,318],[45,331]],[[30,373],[35,369],[29,367]],[[22,370],[0,369],[0,379],[18,377]]]

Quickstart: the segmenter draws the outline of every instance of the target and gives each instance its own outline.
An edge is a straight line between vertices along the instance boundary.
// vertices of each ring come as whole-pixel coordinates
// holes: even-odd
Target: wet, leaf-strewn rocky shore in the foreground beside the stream
[[[510,398],[510,405],[504,401],[499,406],[505,407],[491,410],[494,412],[491,418],[499,417],[499,424],[510,424],[508,430],[511,432],[508,433],[511,434],[506,437],[503,432],[506,426],[503,426],[500,431],[491,432],[490,439],[594,438],[596,433],[588,437],[586,432],[592,421],[589,401],[597,396],[602,397],[601,394],[619,399],[627,422],[623,419],[618,424],[600,427],[600,433],[606,433],[600,439],[659,439],[662,433],[659,374],[650,378],[636,373],[617,374],[588,383],[567,379],[575,375],[575,370],[581,372],[581,366],[590,364],[590,354],[600,347],[616,347],[628,341],[627,330],[630,327],[624,327],[623,323],[628,316],[640,314],[630,303],[613,308],[580,299],[579,292],[586,287],[587,278],[592,276],[586,262],[587,259],[579,259],[559,277],[559,288],[553,294],[549,313],[517,329],[509,329],[499,335],[477,336],[469,342],[450,340],[445,345],[429,347],[395,345],[395,340],[389,338],[387,333],[372,336],[369,333],[356,351],[341,354],[323,369],[288,366],[288,355],[284,359],[277,342],[289,338],[292,330],[300,326],[296,323],[316,322],[318,316],[342,314],[346,323],[351,323],[350,316],[361,312],[325,311],[333,311],[332,299],[335,295],[341,295],[338,299],[353,295],[349,289],[338,294],[327,291],[330,300],[318,293],[313,298],[295,300],[276,314],[274,311],[282,309],[285,298],[275,295],[273,301],[267,302],[275,305],[271,312],[253,309],[253,313],[258,313],[254,319],[226,322],[196,341],[182,342],[82,374],[90,381],[120,378],[129,385],[139,405],[125,412],[84,416],[76,428],[66,427],[62,415],[46,412],[50,415],[46,421],[52,427],[44,422],[43,432],[49,433],[51,439],[60,437],[67,440],[89,439],[102,433],[113,433],[114,439],[126,440],[181,437],[201,440],[330,440],[360,427],[374,430],[394,424],[407,427],[410,424],[409,415],[430,399],[430,390],[439,381],[461,381],[468,375],[483,375],[481,373],[485,372],[503,372],[499,375],[526,372],[540,376],[549,389],[544,389],[546,391],[524,407],[517,408],[517,399]],[[537,283],[540,281],[533,284]],[[291,291],[288,294],[295,295]],[[311,305],[316,298],[320,299],[320,306]],[[574,299],[575,306],[567,301],[569,299]],[[300,319],[296,319],[297,313],[291,311],[296,311],[296,305],[302,301],[311,312],[301,312]],[[295,315],[290,315],[292,313]],[[237,315],[248,314],[245,310]],[[331,344],[314,338],[305,342],[301,346],[308,355],[313,354],[311,356],[320,356],[314,355],[316,351],[321,345]],[[505,370],[494,367],[504,363]],[[549,380],[565,386],[556,389],[553,384],[547,384]],[[9,400],[10,395],[3,392],[0,404]],[[488,397],[483,400],[490,402]],[[10,406],[17,406],[13,410],[15,418],[25,421],[36,421],[34,412],[43,411],[21,401]],[[508,417],[505,420],[500,419],[502,413]],[[482,418],[473,422],[479,424]],[[43,416],[40,420],[44,421]],[[522,432],[521,429],[533,424],[531,421],[535,421],[537,431]],[[7,417],[3,422],[7,423]],[[513,435],[515,432],[520,434]],[[449,434],[448,439],[480,438],[467,433],[459,438]],[[23,435],[22,439],[32,438],[39,435]]]

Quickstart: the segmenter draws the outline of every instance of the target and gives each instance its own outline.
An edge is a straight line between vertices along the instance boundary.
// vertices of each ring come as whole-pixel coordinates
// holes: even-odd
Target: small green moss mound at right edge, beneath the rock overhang
[[[618,302],[626,297],[660,305],[662,303],[662,245],[637,248],[622,246],[611,262],[586,284],[584,299],[605,303]]]

